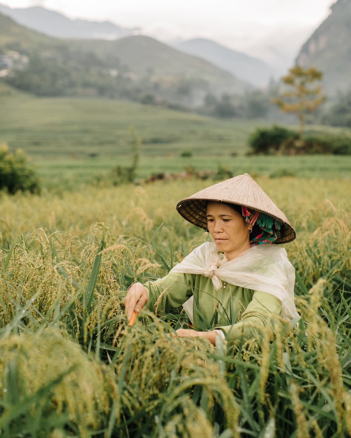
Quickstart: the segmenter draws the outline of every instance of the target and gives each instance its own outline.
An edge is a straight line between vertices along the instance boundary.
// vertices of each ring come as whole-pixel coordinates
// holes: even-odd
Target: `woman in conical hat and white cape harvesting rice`
[[[131,285],[128,319],[144,306],[154,311],[166,298],[166,308],[183,305],[195,328],[179,329],[178,336],[202,336],[215,345],[218,334],[232,342],[259,336],[274,315],[299,317],[294,267],[276,245],[296,233],[249,174],[208,187],[180,201],[177,210],[213,242],[195,248],[164,278]]]

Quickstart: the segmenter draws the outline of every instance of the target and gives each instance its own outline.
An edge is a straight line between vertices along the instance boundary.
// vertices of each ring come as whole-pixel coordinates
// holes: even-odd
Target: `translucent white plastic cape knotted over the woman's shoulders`
[[[169,273],[201,274],[212,279],[216,290],[225,281],[270,293],[281,301],[285,316],[289,319],[299,317],[294,302],[295,269],[287,258],[287,251],[278,245],[255,245],[228,261],[224,254],[218,254],[214,242],[206,242],[195,248]],[[183,307],[192,320],[193,297]]]

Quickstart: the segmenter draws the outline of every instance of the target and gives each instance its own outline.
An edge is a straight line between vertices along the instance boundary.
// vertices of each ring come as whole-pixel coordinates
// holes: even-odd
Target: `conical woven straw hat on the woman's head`
[[[275,244],[287,244],[296,238],[294,228],[290,225],[287,216],[274,204],[261,187],[248,173],[222,181],[211,187],[201,190],[189,198],[179,201],[178,213],[188,222],[207,230],[206,203],[207,201],[228,202],[244,205],[266,215],[278,219],[281,223],[281,237]]]

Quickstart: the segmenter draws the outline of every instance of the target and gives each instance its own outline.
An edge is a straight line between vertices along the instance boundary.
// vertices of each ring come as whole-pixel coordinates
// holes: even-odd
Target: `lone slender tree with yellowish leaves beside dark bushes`
[[[300,123],[300,140],[304,133],[304,117],[306,113],[315,111],[319,105],[326,100],[322,94],[322,86],[312,84],[322,80],[323,73],[315,67],[304,70],[301,66],[291,67],[289,74],[282,78],[284,84],[292,89],[282,93],[282,98],[272,99],[282,111],[293,113],[297,116]]]

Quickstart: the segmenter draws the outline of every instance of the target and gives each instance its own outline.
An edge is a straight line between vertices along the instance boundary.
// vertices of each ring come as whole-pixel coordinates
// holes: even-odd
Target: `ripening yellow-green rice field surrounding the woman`
[[[121,306],[209,239],[175,205],[212,181],[1,194],[1,435],[350,436],[351,184],[257,182],[297,230],[302,318],[215,347],[170,336],[189,321],[165,300],[131,328]]]

